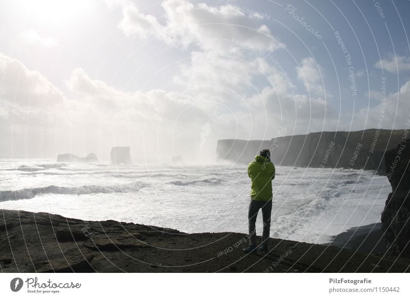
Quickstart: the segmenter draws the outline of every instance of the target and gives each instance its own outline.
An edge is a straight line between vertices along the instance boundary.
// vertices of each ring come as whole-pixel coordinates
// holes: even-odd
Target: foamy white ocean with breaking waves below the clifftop
[[[391,186],[374,171],[276,166],[271,237],[326,243],[380,222]],[[250,179],[239,164],[56,163],[0,159],[0,208],[183,232],[248,232]],[[257,232],[261,235],[261,214]]]

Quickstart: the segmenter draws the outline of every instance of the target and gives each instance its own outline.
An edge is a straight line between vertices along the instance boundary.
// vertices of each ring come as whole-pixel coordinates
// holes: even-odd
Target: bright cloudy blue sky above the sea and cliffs
[[[409,1],[0,0],[0,157],[410,126]]]

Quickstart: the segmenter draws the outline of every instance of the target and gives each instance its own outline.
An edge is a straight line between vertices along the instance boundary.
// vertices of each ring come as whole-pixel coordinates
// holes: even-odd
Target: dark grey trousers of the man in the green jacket
[[[256,245],[256,217],[258,216],[259,209],[262,209],[262,221],[263,221],[263,234],[262,243],[268,245],[268,239],[271,230],[271,212],[272,212],[272,200],[269,201],[254,201],[249,203],[249,245]]]

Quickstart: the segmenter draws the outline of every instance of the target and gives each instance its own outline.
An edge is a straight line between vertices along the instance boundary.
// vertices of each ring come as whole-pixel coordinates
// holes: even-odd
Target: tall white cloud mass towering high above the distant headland
[[[244,55],[284,46],[263,24],[263,18],[245,15],[233,5],[211,7],[167,0],[162,7],[165,14],[154,17],[140,12],[134,4],[122,5],[124,17],[119,28],[127,35],[156,36],[168,45],[185,42],[199,48],[174,81],[188,90],[197,107],[207,111],[212,127],[217,127],[213,131],[221,137],[235,137],[233,131],[242,138],[263,137],[263,127],[273,131],[275,125],[283,123],[303,133],[309,125],[311,130],[321,130],[324,122],[331,122],[333,111],[323,99],[320,66],[312,57],[303,59],[297,69],[298,78],[310,90],[308,97],[293,95],[295,85],[288,74],[285,77],[284,70],[279,71],[264,55]],[[268,87],[259,95],[261,84]],[[215,105],[204,104],[207,100]]]

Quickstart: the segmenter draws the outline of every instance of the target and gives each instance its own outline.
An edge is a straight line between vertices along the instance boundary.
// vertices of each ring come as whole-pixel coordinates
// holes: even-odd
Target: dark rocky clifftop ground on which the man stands
[[[241,233],[185,234],[116,221],[0,210],[2,272],[408,272],[410,260],[271,239],[244,254]],[[259,239],[260,240],[260,239]]]

